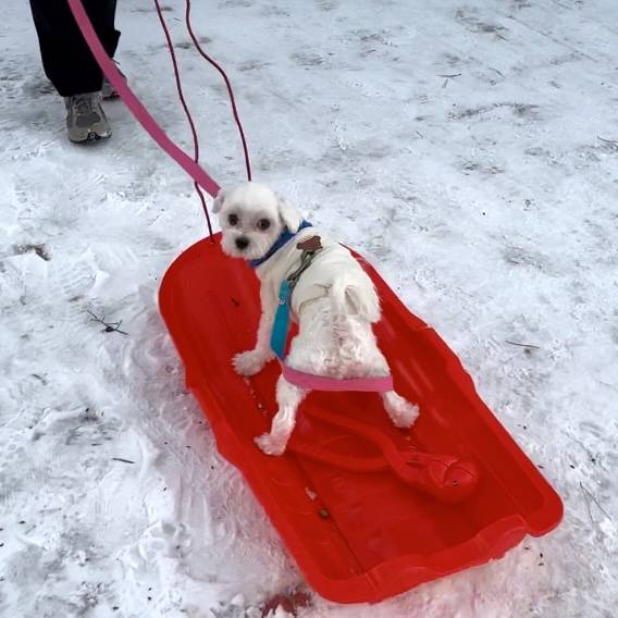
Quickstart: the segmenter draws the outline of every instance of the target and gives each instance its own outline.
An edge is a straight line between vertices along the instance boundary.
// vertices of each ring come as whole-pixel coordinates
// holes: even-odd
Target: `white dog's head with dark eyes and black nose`
[[[223,232],[221,247],[233,258],[263,258],[286,228],[298,232],[300,213],[271,188],[245,183],[221,189],[212,205]]]

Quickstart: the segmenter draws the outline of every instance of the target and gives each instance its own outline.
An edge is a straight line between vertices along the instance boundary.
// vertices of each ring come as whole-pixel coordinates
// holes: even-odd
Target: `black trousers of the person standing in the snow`
[[[120,33],[114,27],[116,0],[83,0],[95,32],[113,57]],[[30,0],[42,66],[62,97],[101,89],[102,73],[66,0]]]

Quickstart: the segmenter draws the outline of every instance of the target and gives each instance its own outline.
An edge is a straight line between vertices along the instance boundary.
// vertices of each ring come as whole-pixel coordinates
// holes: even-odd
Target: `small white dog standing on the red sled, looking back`
[[[223,231],[222,249],[235,258],[263,260],[256,268],[261,281],[261,319],[252,350],[237,355],[234,367],[242,375],[258,373],[275,358],[270,347],[280,287],[300,264],[299,243],[317,235],[313,227],[301,227],[300,213],[267,186],[247,183],[217,196],[213,211]],[[299,230],[300,228],[300,230]],[[275,252],[285,232],[296,234]],[[313,375],[335,379],[390,375],[371,324],[380,320],[380,301],[373,283],[350,252],[320,238],[322,249],[300,275],[291,300],[292,318],[299,332],[285,362]],[[281,244],[281,240],[280,240]],[[283,376],[276,385],[279,411],[271,432],[256,438],[269,455],[281,455],[294,430],[298,406],[307,391]],[[419,410],[394,391],[382,394],[393,423],[410,427]]]

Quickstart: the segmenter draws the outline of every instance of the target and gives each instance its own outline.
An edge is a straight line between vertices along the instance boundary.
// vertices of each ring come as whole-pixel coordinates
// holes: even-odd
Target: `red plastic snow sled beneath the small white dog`
[[[558,495],[479,398],[455,354],[360,261],[382,298],[375,331],[396,390],[420,405],[420,417],[403,432],[375,394],[312,393],[283,457],[254,443],[276,409],[279,364],[249,381],[231,366],[255,343],[255,273],[202,240],[170,267],[160,291],[161,313],[219,450],[243,472],[310,585],[339,603],[378,602],[498,558],[526,534],[551,531],[563,515]],[[413,444],[411,453],[471,462],[467,499],[445,504],[403,482],[380,444],[323,420],[333,415],[378,431],[401,453]]]

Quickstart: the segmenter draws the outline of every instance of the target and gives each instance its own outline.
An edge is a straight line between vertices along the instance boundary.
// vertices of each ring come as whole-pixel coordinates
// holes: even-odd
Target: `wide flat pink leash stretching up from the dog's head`
[[[133,94],[122,75],[119,73],[113,60],[107,54],[82,4],[82,0],[67,0],[69,7],[92,55],[99,63],[101,71],[106,74],[111,85],[122,97],[126,107],[139,124],[148,132],[150,137],[172,158],[191,178],[198,183],[212,197],[219,193],[220,186],[198,165],[186,152],[181,150],[159,126],[157,121],[150,115],[148,110],[140,103],[139,99]]]

